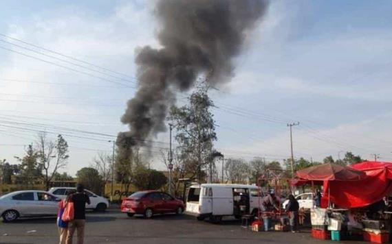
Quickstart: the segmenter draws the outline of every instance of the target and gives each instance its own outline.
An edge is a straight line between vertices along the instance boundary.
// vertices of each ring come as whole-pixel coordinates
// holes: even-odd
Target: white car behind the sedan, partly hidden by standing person
[[[49,192],[59,197],[65,199],[69,193],[75,193],[75,187],[52,187]],[[100,197],[95,193],[85,190],[85,193],[89,196],[91,204],[86,204],[86,209],[92,209],[99,212],[104,212],[109,206],[109,201],[105,197]]]

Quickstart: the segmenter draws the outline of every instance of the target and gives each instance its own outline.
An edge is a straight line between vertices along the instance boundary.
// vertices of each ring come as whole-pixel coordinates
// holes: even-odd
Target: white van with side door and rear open
[[[218,223],[224,216],[256,215],[259,187],[246,184],[197,184],[190,186],[185,214]]]

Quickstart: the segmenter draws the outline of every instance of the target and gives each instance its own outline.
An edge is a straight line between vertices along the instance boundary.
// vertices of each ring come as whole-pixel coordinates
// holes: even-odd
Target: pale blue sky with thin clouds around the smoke
[[[153,8],[153,1],[8,1],[0,34],[125,74],[135,86],[135,49],[158,46]],[[300,121],[296,158],[337,158],[348,150],[392,161],[391,12],[391,1],[272,1],[235,59],[235,77],[210,93],[218,107],[217,148],[228,157],[282,160],[290,156],[286,124]],[[126,130],[120,116],[134,91],[0,49],[0,125],[117,134]],[[0,158],[14,162],[34,134],[0,126]],[[111,150],[105,140],[65,138],[71,146],[65,170],[72,174],[88,166],[96,150]],[[152,164],[162,169],[157,150]]]

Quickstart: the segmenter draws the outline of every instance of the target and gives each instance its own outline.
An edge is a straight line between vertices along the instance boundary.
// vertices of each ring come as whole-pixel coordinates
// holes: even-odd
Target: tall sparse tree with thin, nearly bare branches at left
[[[68,143],[60,134],[55,142],[50,141],[45,132],[39,133],[37,138],[39,168],[43,171],[42,180],[47,191],[58,169],[67,166]]]

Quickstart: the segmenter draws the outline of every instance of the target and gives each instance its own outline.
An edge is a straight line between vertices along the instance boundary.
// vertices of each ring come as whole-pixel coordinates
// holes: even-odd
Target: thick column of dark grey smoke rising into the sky
[[[120,157],[131,148],[164,132],[174,90],[193,87],[198,75],[210,73],[211,85],[229,82],[232,59],[239,55],[246,34],[265,13],[262,0],[161,0],[155,14],[161,25],[160,49],[146,46],[135,58],[139,88],[121,118],[129,132],[120,132]]]

